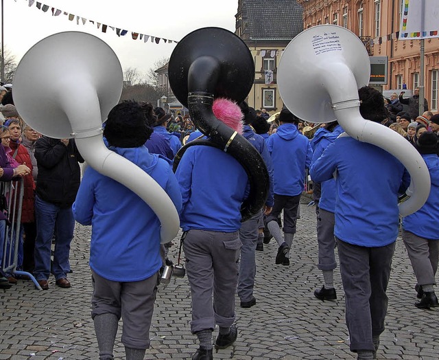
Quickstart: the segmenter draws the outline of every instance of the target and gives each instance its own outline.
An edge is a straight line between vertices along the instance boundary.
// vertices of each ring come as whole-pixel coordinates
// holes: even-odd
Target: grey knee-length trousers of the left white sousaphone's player
[[[91,317],[106,313],[122,317],[122,344],[128,348],[150,348],[150,326],[156,300],[158,273],[135,282],[116,282],[92,271]]]

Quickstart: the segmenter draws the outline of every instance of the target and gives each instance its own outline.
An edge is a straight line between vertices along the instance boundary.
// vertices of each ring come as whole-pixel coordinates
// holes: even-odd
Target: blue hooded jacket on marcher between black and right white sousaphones
[[[267,140],[274,168],[274,194],[296,196],[305,190],[305,170],[311,166],[309,139],[294,124],[282,124]]]

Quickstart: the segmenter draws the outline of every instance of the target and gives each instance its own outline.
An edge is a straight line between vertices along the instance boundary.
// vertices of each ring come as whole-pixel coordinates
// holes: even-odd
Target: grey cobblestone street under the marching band
[[[317,269],[314,207],[300,205],[301,218],[294,239],[291,266],[274,265],[277,245],[272,240],[257,252],[256,306],[240,308],[238,339],[214,359],[355,359],[349,351],[344,322],[344,293],[335,271],[337,300],[321,302],[313,296],[322,285]],[[90,317],[91,272],[88,268],[90,227],[77,224],[71,247],[71,289],[55,286],[38,291],[19,280],[0,290],[0,360],[97,359],[97,341]],[[179,238],[169,258],[176,262]],[[117,267],[117,264],[111,266]],[[439,359],[439,311],[414,306],[416,280],[401,238],[396,245],[388,289],[386,329],[378,359]],[[151,348],[145,359],[190,359],[198,348],[190,333],[191,296],[187,278],[172,278],[158,289],[151,328]],[[119,324],[121,325],[121,324]],[[120,330],[115,358],[124,359]],[[217,333],[214,333],[216,337]]]

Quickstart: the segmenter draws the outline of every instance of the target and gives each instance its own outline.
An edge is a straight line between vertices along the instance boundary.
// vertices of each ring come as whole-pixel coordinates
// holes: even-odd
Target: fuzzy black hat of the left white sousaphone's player
[[[138,148],[150,138],[152,128],[147,126],[145,114],[138,102],[124,101],[108,113],[104,136],[110,146]]]

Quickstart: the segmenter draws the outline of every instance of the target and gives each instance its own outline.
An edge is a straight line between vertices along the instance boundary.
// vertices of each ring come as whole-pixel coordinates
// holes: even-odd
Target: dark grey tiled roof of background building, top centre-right
[[[244,32],[251,40],[287,40],[303,30],[302,6],[296,0],[244,0]]]

